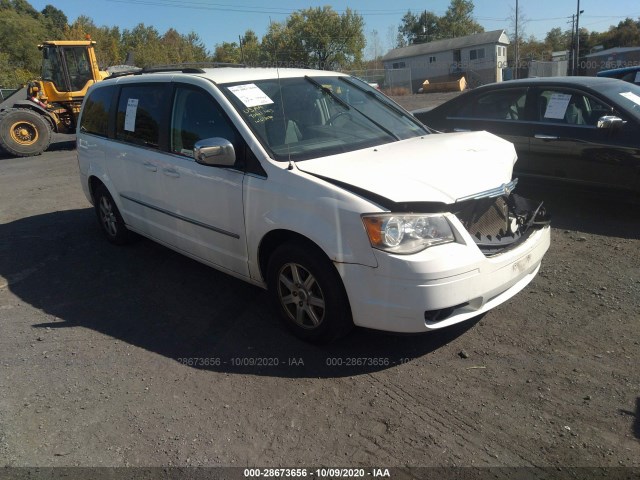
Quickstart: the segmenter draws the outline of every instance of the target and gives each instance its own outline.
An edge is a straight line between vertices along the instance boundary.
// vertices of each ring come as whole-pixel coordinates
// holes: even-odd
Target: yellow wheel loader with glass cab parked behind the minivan
[[[0,103],[0,148],[17,157],[44,152],[53,132],[74,133],[82,100],[109,74],[98,68],[91,40],[47,41],[42,79],[33,80]]]

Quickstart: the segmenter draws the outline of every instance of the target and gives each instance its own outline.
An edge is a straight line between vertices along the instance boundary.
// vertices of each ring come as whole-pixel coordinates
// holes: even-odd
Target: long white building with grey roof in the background
[[[434,83],[460,78],[471,85],[501,82],[507,67],[509,37],[504,30],[396,48],[382,57],[387,70],[410,72],[412,90],[422,82]],[[390,72],[391,73],[391,72]]]

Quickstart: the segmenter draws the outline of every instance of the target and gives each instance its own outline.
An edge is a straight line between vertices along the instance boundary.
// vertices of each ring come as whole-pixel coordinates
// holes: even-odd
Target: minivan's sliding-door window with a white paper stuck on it
[[[118,100],[116,138],[148,148],[160,147],[160,128],[167,106],[164,84],[125,85]]]

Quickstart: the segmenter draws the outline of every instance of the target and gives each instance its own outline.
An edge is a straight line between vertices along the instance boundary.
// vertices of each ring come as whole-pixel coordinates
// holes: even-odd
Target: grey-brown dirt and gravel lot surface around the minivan
[[[640,467],[640,207],[520,190],[553,214],[523,292],[319,348],[260,289],[103,240],[72,143],[0,156],[0,466]]]

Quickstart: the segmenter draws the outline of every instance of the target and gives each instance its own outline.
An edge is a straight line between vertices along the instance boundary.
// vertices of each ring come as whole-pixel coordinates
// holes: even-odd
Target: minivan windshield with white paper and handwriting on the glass
[[[428,133],[390,99],[350,77],[298,77],[222,86],[262,145],[300,161]]]

